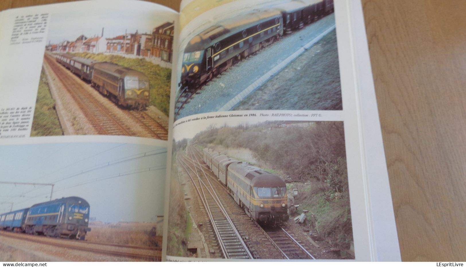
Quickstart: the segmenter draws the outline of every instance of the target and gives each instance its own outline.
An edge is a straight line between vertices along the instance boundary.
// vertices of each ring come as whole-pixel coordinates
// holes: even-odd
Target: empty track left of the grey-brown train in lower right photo
[[[199,168],[196,166],[194,159],[192,159],[192,163],[183,158],[178,158],[178,160],[186,173],[188,173],[205,207],[223,257],[225,259],[254,259],[240,233],[234,226],[233,221],[221,204],[210,181],[202,170],[198,171]]]

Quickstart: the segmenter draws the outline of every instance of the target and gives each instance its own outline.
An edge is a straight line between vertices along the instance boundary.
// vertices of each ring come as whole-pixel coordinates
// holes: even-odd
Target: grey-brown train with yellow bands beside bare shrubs
[[[208,148],[202,157],[251,219],[260,224],[289,219],[287,187],[279,176]]]

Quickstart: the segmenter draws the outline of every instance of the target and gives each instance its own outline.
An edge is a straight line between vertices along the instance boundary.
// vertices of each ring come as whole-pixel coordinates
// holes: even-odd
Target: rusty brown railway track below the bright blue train
[[[119,244],[108,244],[108,243],[98,243],[98,242],[82,242],[82,241],[75,241],[75,240],[62,240],[62,239],[53,239],[50,237],[45,236],[34,236],[28,235],[25,233],[7,233],[7,232],[0,232],[0,235],[6,236],[9,238],[14,238],[17,240],[26,240],[34,243],[40,243],[44,245],[50,246],[59,246],[62,248],[68,248],[72,250],[80,250],[92,253],[99,253],[103,255],[109,256],[117,256],[117,257],[124,257],[124,258],[134,258],[134,259],[142,259],[145,261],[160,261],[162,260],[161,253],[159,249],[153,249],[152,251],[147,251],[147,247],[139,247],[139,246],[126,246],[126,245],[119,245]],[[106,249],[104,248],[96,248],[91,247],[89,244],[99,245],[99,246],[107,246]],[[145,250],[145,254],[143,253],[134,253],[134,252],[125,252],[122,251],[122,247],[124,249],[132,249],[132,250]]]

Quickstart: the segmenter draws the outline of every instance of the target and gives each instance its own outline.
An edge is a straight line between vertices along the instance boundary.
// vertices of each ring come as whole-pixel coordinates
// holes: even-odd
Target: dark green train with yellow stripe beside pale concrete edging
[[[333,0],[292,0],[219,21],[186,45],[179,86],[195,88],[286,32],[333,12]]]

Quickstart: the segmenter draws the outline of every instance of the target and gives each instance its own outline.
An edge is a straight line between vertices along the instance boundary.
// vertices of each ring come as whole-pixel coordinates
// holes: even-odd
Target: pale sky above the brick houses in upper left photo
[[[73,10],[70,12],[54,13],[50,16],[47,43],[61,41],[75,41],[84,34],[90,38],[103,36],[115,37],[128,33],[151,33],[152,29],[166,21],[173,21],[171,13],[132,7],[128,5],[125,10],[107,7],[99,9]]]

